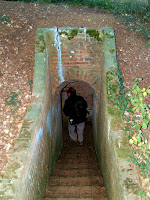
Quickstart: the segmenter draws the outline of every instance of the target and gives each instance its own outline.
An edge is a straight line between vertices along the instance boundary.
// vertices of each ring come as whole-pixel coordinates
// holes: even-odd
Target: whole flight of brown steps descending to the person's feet
[[[90,129],[87,124],[82,146],[67,141],[65,134],[64,147],[43,200],[108,200]]]

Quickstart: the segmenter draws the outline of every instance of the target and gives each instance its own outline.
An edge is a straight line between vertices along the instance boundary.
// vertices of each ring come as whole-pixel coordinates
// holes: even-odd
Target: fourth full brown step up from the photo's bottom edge
[[[57,162],[55,165],[55,169],[95,169],[99,170],[99,165],[98,163],[89,163],[89,162],[84,162],[84,163],[61,163]]]

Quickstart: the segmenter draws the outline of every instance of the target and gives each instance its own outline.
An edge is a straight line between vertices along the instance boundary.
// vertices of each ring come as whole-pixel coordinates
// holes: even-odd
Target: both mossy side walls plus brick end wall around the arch
[[[115,69],[112,28],[38,29],[33,99],[1,183],[0,198],[43,197],[62,149],[61,91],[82,81],[93,90],[94,144],[109,199],[140,199],[134,194],[140,189],[138,176],[135,171],[134,177],[128,173],[130,163],[120,154],[126,146],[120,141],[121,115],[112,112],[107,99],[106,76],[112,76],[117,87],[118,77],[112,75]]]

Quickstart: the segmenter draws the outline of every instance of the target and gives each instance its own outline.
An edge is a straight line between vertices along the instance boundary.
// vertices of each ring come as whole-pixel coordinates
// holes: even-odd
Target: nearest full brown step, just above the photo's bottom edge
[[[46,198],[106,198],[104,187],[100,186],[50,186]]]

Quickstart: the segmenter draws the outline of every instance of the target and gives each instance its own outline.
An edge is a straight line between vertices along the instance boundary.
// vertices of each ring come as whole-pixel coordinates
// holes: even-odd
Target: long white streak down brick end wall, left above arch
[[[60,83],[64,82],[64,76],[63,76],[63,69],[62,69],[62,63],[61,63],[61,43],[60,43],[60,37],[59,37],[59,31],[58,28],[54,28],[54,35],[55,35],[55,45],[57,48],[58,53],[58,75],[60,78]]]

